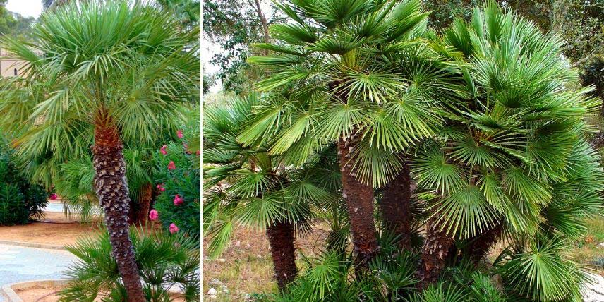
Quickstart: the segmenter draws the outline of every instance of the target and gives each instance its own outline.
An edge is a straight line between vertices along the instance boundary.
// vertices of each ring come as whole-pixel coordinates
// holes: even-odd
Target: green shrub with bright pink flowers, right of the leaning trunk
[[[178,136],[184,138],[181,131]],[[200,157],[183,142],[164,145],[155,154],[159,196],[149,219],[159,220],[172,234],[183,233],[198,240],[201,236]]]

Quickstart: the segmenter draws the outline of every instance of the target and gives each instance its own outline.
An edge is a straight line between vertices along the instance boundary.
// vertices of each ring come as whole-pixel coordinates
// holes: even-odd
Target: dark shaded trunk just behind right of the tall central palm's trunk
[[[397,177],[384,187],[380,211],[387,229],[399,236],[399,247],[402,250],[410,248],[411,176],[406,164]]]

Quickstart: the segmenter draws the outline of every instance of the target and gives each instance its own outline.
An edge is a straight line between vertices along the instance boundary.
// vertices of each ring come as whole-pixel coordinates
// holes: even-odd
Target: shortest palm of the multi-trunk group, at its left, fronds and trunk
[[[204,229],[212,238],[210,255],[222,253],[236,226],[265,229],[274,277],[284,289],[298,274],[294,243],[310,229],[311,205],[334,200],[339,186],[325,181],[331,171],[316,155],[298,169],[267,155],[264,146],[237,143],[260,99],[252,94],[204,110]]]

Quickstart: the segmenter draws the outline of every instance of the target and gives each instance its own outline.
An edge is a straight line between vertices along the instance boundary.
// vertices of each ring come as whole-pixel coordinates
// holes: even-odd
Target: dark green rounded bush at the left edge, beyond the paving
[[[47,204],[47,192],[18,174],[13,150],[0,137],[0,225],[26,224],[40,219]]]

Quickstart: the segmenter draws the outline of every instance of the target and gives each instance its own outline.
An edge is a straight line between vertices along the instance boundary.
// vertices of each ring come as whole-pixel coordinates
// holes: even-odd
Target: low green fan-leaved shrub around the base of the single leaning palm
[[[168,290],[177,288],[186,301],[199,301],[200,251],[195,241],[182,234],[149,234],[135,228],[130,237],[147,301],[170,301]],[[106,230],[66,248],[79,260],[64,272],[72,281],[59,294],[59,301],[126,301]]]

